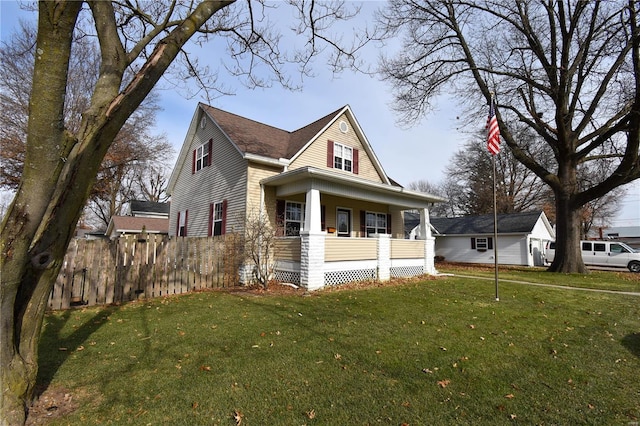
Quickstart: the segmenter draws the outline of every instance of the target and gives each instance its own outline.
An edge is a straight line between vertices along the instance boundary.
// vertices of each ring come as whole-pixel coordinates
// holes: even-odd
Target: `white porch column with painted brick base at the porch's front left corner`
[[[300,285],[307,290],[324,287],[324,239],[320,218],[320,191],[307,191],[304,228],[300,232]]]

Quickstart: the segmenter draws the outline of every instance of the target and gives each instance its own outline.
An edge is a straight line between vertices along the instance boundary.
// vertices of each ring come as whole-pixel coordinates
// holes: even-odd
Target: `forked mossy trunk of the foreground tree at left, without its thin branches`
[[[0,424],[26,420],[38,371],[38,342],[47,299],[100,163],[127,118],[181,47],[231,1],[202,2],[158,42],[121,91],[129,65],[111,2],[90,3],[102,64],[91,105],[76,135],[63,108],[73,31],[83,2],[39,2],[38,38],[21,183],[0,228]]]

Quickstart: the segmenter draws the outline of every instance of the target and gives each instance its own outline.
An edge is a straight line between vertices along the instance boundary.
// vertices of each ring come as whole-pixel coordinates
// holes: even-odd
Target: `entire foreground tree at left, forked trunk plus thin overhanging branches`
[[[298,32],[307,50],[287,56],[278,44],[281,26],[268,19],[267,5],[257,1],[38,3],[24,168],[0,228],[3,425],[25,421],[47,299],[109,147],[178,56],[188,65],[188,76],[211,81],[189,66],[193,62],[184,55],[189,41],[198,32],[198,42],[214,36],[227,41],[228,67],[249,85],[286,84],[285,65],[293,61],[308,69],[322,46],[335,52],[333,65],[355,59],[351,52],[358,46],[342,48],[327,32],[331,22],[349,16],[342,13],[345,4],[291,4],[302,19]],[[97,38],[100,61],[88,103],[72,125],[65,122],[64,110],[79,30]],[[271,77],[256,74],[263,69]]]

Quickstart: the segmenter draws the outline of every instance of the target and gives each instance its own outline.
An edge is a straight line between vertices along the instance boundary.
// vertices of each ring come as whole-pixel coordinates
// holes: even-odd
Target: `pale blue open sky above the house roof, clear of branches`
[[[367,8],[371,10],[381,4],[368,2]],[[34,13],[20,11],[18,2],[0,0],[2,40],[18,27],[18,17],[36,19]],[[205,52],[206,56],[214,56],[210,51]],[[373,64],[379,52],[372,47],[366,54]],[[250,90],[228,79],[225,82],[234,88],[235,95],[209,103],[285,130],[298,129],[349,104],[385,171],[403,185],[417,180],[441,181],[450,158],[469,138],[469,129],[463,132],[456,127],[456,116],[461,111],[446,96],[438,99],[437,111],[415,126],[403,128],[397,125],[397,116],[390,108],[392,93],[386,83],[351,71],[334,77],[321,59],[314,62],[313,71],[315,76],[305,78],[299,92],[276,85]],[[197,103],[207,101],[199,97],[186,99],[175,90],[160,90],[159,94],[163,110],[158,114],[157,133],[167,135],[177,155]],[[486,116],[478,117],[477,128],[471,131],[483,128],[485,123]],[[613,225],[640,225],[640,182],[628,186],[621,213]]]

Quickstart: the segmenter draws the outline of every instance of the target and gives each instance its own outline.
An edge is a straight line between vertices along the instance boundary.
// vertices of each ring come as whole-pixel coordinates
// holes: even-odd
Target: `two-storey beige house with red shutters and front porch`
[[[349,106],[289,132],[198,104],[167,192],[171,235],[243,232],[266,217],[280,281],[435,273],[433,239],[404,240],[403,211],[419,210],[428,229],[429,206],[444,200],[393,182]]]

